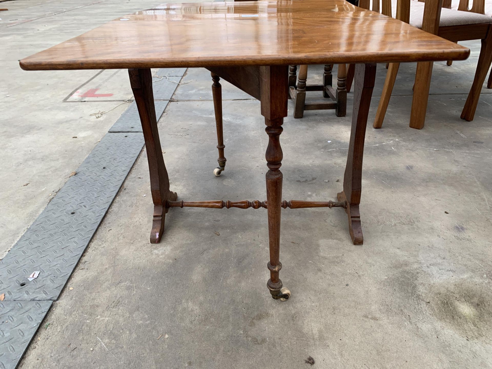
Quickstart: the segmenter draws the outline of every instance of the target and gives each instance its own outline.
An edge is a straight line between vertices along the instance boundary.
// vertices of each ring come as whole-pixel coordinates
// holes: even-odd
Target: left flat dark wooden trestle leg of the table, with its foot
[[[145,148],[149,161],[151,177],[152,201],[154,201],[154,220],[152,222],[151,243],[159,243],[164,233],[164,219],[166,217],[166,201],[176,201],[178,195],[169,190],[162,149],[160,147],[157,120],[155,118],[154,93],[152,92],[152,73],[150,69],[128,69],[131,89],[142,123],[145,138]]]

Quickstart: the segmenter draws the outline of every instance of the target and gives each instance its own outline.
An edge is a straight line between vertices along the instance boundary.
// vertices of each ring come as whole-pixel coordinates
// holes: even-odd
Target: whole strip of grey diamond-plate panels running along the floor
[[[185,70],[168,68],[156,73],[157,119]],[[0,369],[15,369],[19,364],[143,146],[133,102],[0,261],[0,291],[5,293],[0,302]],[[29,281],[27,277],[34,271],[40,274]]]

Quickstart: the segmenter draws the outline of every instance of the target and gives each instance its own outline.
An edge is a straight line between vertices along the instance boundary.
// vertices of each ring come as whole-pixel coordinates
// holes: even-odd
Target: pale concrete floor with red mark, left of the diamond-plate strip
[[[2,3],[9,10],[0,12],[0,259],[127,108],[118,105],[132,96],[125,71],[27,72],[18,60],[158,3]],[[112,96],[80,97],[91,89]],[[91,116],[113,108],[101,118]]]

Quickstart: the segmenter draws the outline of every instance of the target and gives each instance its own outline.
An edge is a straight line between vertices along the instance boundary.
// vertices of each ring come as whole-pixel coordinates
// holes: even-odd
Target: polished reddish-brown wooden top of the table
[[[344,0],[163,4],[21,60],[26,70],[463,60],[469,49]]]

